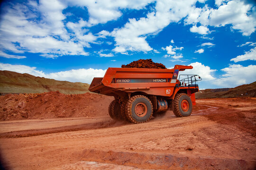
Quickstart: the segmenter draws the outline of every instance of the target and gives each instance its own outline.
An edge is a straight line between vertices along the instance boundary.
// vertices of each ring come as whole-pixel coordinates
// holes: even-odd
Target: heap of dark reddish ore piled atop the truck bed
[[[152,59],[139,59],[137,61],[133,61],[128,65],[122,65],[122,68],[164,68],[165,65],[161,63],[155,63]]]

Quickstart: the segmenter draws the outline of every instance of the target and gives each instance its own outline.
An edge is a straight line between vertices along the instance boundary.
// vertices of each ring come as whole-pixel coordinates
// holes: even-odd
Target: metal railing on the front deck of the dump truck
[[[181,79],[182,76],[182,79]],[[183,78],[185,77],[185,78]],[[198,78],[198,79],[197,79]],[[179,86],[188,86],[188,87],[196,87],[198,86],[196,84],[197,81],[201,81],[201,77],[198,75],[180,75],[179,76]]]

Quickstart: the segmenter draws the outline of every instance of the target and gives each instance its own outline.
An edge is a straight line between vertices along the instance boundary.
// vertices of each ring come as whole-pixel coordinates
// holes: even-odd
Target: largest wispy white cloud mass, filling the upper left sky
[[[15,53],[42,53],[44,57],[56,58],[62,55],[89,55],[84,47],[98,43],[97,39],[108,36],[108,32],[91,34],[88,27],[104,24],[122,15],[122,9],[142,9],[152,0],[128,1],[102,0],[40,0],[22,3],[6,2],[6,12],[1,16],[0,50]],[[67,22],[63,10],[67,7],[87,8],[89,20]],[[84,10],[84,12],[87,12]],[[68,29],[67,29],[68,28]],[[13,43],[15,42],[15,43]],[[110,43],[108,43],[110,44]],[[18,55],[4,55],[16,58]]]

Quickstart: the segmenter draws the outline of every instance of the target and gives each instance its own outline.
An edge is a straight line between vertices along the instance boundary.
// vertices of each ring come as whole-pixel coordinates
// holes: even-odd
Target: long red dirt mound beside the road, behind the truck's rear
[[[108,114],[112,97],[60,92],[0,96],[0,120],[97,117]]]

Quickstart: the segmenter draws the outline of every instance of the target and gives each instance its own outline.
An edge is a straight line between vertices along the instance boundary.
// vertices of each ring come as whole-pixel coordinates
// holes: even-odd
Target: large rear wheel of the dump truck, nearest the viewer
[[[152,116],[152,112],[152,102],[146,96],[135,95],[126,103],[126,117],[132,123],[143,123],[148,121]]]

